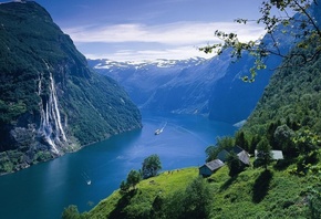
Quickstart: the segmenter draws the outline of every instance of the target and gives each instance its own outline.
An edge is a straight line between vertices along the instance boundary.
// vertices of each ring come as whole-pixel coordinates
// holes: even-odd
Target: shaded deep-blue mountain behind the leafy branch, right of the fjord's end
[[[318,7],[315,7],[318,8]],[[311,9],[313,10],[313,9]],[[315,18],[319,10],[313,10]],[[300,40],[298,35],[303,35],[306,30],[301,29],[300,20],[303,15],[294,14],[291,24],[278,25],[272,33],[266,34],[261,41],[263,45],[278,54],[287,54]],[[275,46],[278,44],[278,48]],[[263,60],[267,69],[258,71],[253,83],[244,83],[239,80],[244,75],[249,75],[250,69],[255,65],[255,58],[244,53],[242,58],[230,64],[224,77],[217,81],[213,87],[209,101],[209,118],[215,121],[225,121],[237,123],[247,117],[255,109],[258,101],[263,94],[265,87],[270,83],[269,80],[282,62],[281,55],[268,55]]]

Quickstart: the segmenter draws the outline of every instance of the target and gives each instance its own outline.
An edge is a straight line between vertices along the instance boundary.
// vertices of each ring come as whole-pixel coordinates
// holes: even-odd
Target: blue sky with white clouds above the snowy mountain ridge
[[[1,1],[0,2],[8,2]],[[218,42],[215,30],[257,40],[257,0],[35,0],[89,59],[142,61],[210,58],[198,48]]]

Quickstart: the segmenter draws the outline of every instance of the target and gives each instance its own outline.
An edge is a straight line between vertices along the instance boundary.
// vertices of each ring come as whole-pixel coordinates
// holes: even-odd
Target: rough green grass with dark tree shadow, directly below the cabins
[[[214,189],[211,218],[306,218],[307,205],[301,194],[309,185],[306,177],[270,168],[248,168],[237,178],[221,178],[228,169],[221,168],[210,178]],[[291,207],[291,210],[289,208]]]

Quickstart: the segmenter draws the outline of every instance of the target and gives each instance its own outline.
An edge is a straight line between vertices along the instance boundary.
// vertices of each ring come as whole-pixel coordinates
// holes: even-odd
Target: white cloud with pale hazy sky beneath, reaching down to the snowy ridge
[[[64,29],[64,32],[71,35],[75,44],[82,49],[81,52],[90,59],[137,61],[210,58],[211,54],[199,52],[197,46],[218,42],[214,36],[215,30],[236,32],[242,41],[257,40],[265,33],[265,30],[256,24],[241,25],[234,22],[176,22],[162,25],[132,23],[80,27]],[[105,46],[108,44],[111,49],[103,52],[94,51],[93,48],[89,49],[92,43],[105,43]]]

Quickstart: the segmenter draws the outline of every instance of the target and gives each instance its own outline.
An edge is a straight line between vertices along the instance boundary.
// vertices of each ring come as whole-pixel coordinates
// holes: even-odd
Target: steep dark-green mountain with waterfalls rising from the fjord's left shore
[[[112,79],[93,72],[38,3],[0,4],[0,173],[141,128]]]

